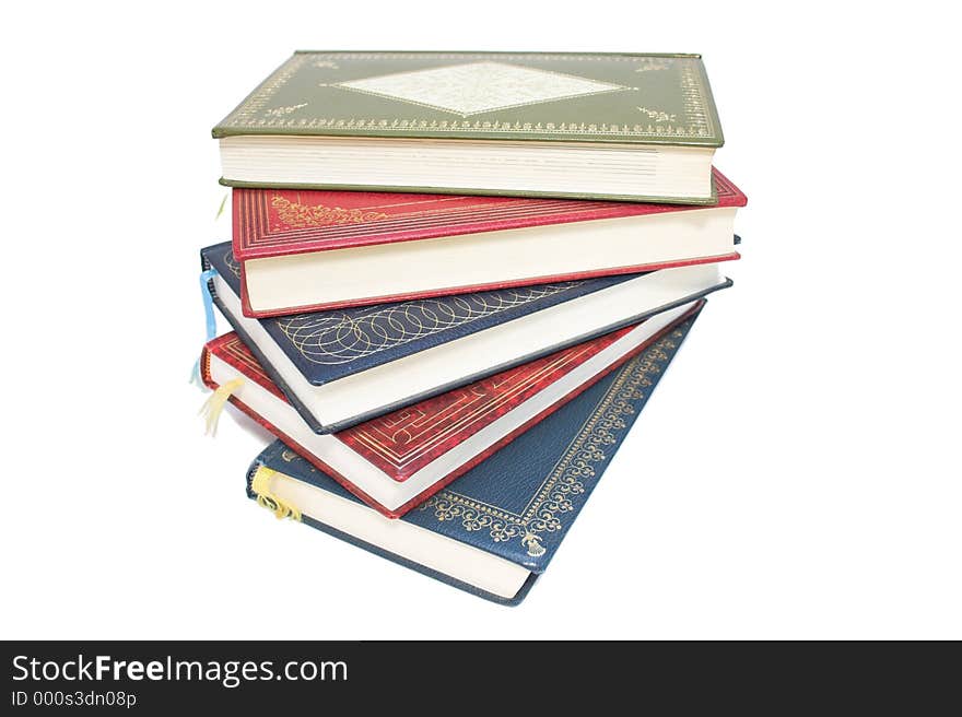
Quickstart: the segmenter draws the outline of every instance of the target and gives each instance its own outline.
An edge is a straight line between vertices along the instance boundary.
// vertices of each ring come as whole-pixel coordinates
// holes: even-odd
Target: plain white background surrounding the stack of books
[[[940,5],[8,7],[0,635],[962,637]],[[736,286],[519,608],[275,521],[243,490],[266,435],[202,435],[197,254],[230,231],[210,128],[297,48],[705,57],[749,195]]]

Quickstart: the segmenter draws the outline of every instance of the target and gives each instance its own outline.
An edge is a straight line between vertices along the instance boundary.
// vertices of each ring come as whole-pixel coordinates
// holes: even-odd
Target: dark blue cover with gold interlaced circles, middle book
[[[204,268],[216,270],[241,295],[241,266],[230,242],[203,249],[201,259]],[[259,320],[304,377],[320,386],[636,277],[517,286]]]

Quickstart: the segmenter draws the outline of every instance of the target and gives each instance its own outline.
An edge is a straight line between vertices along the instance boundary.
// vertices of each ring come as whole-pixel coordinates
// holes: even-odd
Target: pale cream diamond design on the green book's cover
[[[401,99],[462,117],[629,89],[503,62],[471,62],[414,70],[341,82],[335,86]]]

